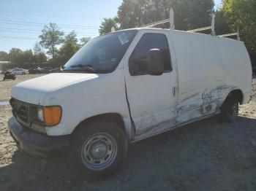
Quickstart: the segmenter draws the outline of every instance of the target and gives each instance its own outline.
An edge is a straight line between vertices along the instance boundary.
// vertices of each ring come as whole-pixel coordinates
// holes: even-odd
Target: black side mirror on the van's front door
[[[148,74],[152,76],[162,75],[165,70],[164,55],[162,53],[162,50],[159,50],[159,49],[148,50],[147,63],[148,63]]]

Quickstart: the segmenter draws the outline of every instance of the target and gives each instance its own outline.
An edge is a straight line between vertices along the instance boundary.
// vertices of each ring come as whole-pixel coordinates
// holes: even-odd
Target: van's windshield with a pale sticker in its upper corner
[[[127,51],[137,30],[119,31],[99,36],[84,45],[64,65],[64,71],[110,73]]]

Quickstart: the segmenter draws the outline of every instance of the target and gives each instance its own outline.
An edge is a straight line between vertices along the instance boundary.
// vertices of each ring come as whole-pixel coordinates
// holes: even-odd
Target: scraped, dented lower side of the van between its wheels
[[[143,123],[147,123],[148,128],[138,128],[135,141],[217,114],[228,93],[234,89],[236,87],[218,86],[212,90],[205,89],[202,92],[188,95],[181,103],[173,106],[171,116],[175,117],[167,119],[166,112],[162,112],[157,115],[158,117],[148,117],[146,121],[143,121]]]

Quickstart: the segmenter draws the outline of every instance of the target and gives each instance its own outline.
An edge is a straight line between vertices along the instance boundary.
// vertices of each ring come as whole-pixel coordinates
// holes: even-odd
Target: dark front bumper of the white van
[[[69,147],[70,136],[47,136],[37,133],[20,125],[15,117],[11,117],[8,121],[8,128],[18,149],[31,157],[42,159],[59,157]]]

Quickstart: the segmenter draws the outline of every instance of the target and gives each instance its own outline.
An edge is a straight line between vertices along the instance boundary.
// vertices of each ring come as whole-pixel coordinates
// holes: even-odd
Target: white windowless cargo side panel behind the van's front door
[[[232,90],[250,91],[252,70],[244,44],[203,34],[174,31],[178,63],[177,125],[219,112]]]

